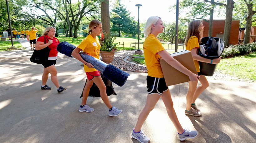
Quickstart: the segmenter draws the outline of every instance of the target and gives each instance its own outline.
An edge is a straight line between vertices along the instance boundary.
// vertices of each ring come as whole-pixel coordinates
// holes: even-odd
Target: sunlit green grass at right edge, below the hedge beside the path
[[[216,71],[241,79],[256,81],[256,52],[222,59],[218,63]]]

